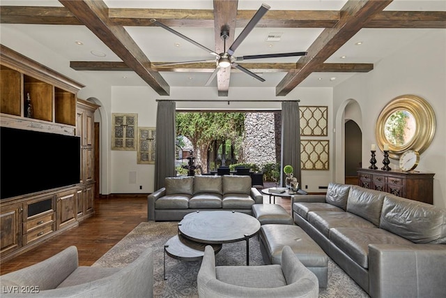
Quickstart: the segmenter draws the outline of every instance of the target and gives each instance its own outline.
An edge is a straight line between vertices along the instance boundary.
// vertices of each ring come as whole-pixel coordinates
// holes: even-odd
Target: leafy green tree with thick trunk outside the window
[[[240,143],[245,131],[245,113],[176,113],[176,134],[187,137],[194,147],[197,165],[206,169],[208,148],[213,141]]]

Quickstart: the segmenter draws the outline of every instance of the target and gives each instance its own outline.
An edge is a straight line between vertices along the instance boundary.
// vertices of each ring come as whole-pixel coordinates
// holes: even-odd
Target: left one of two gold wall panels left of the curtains
[[[137,150],[138,114],[112,114],[112,150]]]

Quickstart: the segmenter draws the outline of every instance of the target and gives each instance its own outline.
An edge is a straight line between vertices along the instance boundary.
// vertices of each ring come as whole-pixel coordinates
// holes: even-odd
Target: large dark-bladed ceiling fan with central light
[[[264,58],[277,58],[277,57],[296,57],[296,56],[305,56],[307,52],[289,52],[289,53],[279,53],[279,54],[257,54],[257,55],[249,55],[249,56],[241,56],[236,57],[233,56],[234,52],[237,50],[238,46],[247,38],[248,34],[256,27],[256,24],[261,20],[263,15],[265,15],[268,10],[270,9],[270,6],[263,3],[259,10],[256,11],[254,16],[251,20],[247,23],[246,27],[243,29],[243,31],[240,33],[240,35],[236,38],[236,40],[233,41],[232,45],[229,47],[228,50],[226,50],[226,38],[229,37],[229,26],[224,26],[222,28],[222,31],[220,33],[220,36],[224,40],[224,52],[218,54],[217,52],[208,49],[208,47],[205,47],[204,45],[201,45],[197,43],[196,41],[188,38],[187,36],[184,36],[183,34],[179,33],[178,31],[175,31],[174,29],[171,29],[170,27],[166,26],[165,24],[162,24],[161,22],[158,22],[155,19],[151,19],[151,22],[153,24],[156,24],[159,27],[162,27],[163,29],[166,29],[167,31],[174,33],[176,36],[179,36],[180,38],[183,38],[184,40],[187,40],[188,42],[197,45],[197,47],[201,47],[201,49],[207,51],[209,54],[212,54],[215,56],[215,59],[213,60],[195,60],[195,61],[184,61],[184,62],[173,62],[169,64],[160,64],[157,66],[168,66],[168,65],[176,65],[176,64],[192,64],[192,63],[200,63],[200,62],[214,62],[216,63],[216,67],[212,75],[210,75],[208,81],[206,82],[206,86],[212,82],[214,77],[217,75],[218,71],[221,68],[227,68],[229,66],[233,68],[237,68],[238,70],[243,71],[243,73],[246,73],[247,75],[250,75],[257,80],[261,82],[265,82],[265,79],[263,77],[260,77],[259,75],[256,75],[255,73],[252,73],[251,71],[247,70],[247,68],[244,68],[243,66],[240,66],[237,62],[248,60],[248,59],[264,59]]]

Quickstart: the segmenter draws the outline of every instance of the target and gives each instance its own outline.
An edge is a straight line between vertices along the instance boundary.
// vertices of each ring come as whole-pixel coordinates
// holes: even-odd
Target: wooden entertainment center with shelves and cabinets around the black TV
[[[78,184],[1,199],[3,262],[93,215],[94,112],[99,106],[77,98],[84,85],[8,47],[0,45],[0,50],[1,126],[79,136],[81,145]],[[33,107],[31,117],[26,117],[27,94]]]

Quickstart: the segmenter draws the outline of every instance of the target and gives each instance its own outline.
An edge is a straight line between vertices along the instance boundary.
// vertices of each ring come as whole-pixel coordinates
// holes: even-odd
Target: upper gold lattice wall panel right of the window
[[[301,105],[300,135],[301,136],[328,136],[328,107]]]

